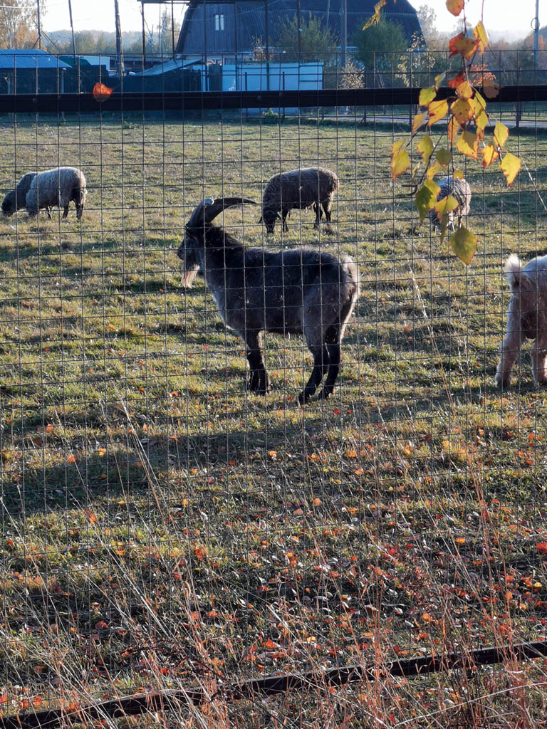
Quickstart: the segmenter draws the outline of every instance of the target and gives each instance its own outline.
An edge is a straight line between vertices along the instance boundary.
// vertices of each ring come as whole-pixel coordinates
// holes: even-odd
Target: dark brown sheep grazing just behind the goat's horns
[[[338,176],[324,167],[306,167],[282,172],[266,182],[262,196],[262,217],[267,233],[274,233],[276,219],[282,220],[282,230],[289,230],[287,215],[293,208],[314,208],[314,227],[323,217],[330,223],[330,204],[338,190]]]

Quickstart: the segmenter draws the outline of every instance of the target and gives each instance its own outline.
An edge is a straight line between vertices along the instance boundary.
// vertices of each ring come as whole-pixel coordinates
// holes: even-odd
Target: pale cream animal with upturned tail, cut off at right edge
[[[508,257],[505,276],[511,286],[507,332],[496,370],[498,387],[508,387],[511,370],[524,340],[532,345],[532,375],[536,384],[547,381],[547,256],[532,258],[522,268],[519,258]]]

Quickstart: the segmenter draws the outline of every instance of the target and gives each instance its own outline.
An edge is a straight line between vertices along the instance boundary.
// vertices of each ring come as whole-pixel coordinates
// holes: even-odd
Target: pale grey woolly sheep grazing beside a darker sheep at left
[[[63,218],[69,214],[71,200],[76,204],[76,217],[82,218],[87,190],[85,176],[77,167],[56,167],[39,172],[31,182],[26,196],[26,209],[30,216],[40,208],[63,208]]]

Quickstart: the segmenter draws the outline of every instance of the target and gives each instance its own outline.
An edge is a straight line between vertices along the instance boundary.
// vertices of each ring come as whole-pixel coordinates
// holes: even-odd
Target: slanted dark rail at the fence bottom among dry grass
[[[200,704],[221,696],[228,701],[250,698],[256,695],[274,695],[292,689],[317,687],[319,682],[331,686],[368,679],[375,681],[385,676],[421,677],[451,669],[475,670],[478,666],[492,666],[503,661],[527,660],[547,655],[547,642],[520,643],[513,646],[478,648],[468,653],[419,656],[397,660],[394,663],[369,664],[368,666],[338,666],[327,671],[306,671],[302,674],[281,674],[260,679],[241,681],[235,685],[221,685],[214,695],[196,688],[190,690],[150,691],[133,696],[123,696],[78,709],[46,709],[0,717],[0,729],[53,729],[64,722],[88,722],[123,717],[144,712],[179,709],[182,704]],[[220,683],[220,677],[217,677]]]

